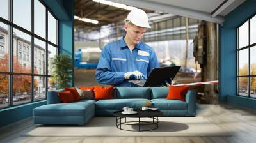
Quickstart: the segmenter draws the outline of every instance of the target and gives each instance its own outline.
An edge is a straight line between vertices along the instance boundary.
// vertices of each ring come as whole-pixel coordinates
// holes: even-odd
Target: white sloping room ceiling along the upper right
[[[245,0],[110,0],[149,10],[223,23],[224,17]],[[221,3],[225,1],[220,8]],[[218,8],[218,10],[214,10]]]

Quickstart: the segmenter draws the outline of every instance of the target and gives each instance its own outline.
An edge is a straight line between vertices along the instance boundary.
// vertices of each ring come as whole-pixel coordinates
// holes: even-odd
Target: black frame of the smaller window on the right
[[[236,95],[237,96],[243,96],[241,94],[239,94],[239,78],[240,77],[247,77],[247,96],[243,96],[243,97],[247,97],[247,98],[253,98],[255,99],[256,97],[252,97],[251,96],[251,78],[252,77],[256,77],[256,75],[252,75],[251,74],[251,63],[250,63],[250,58],[251,58],[251,55],[250,55],[250,50],[256,46],[256,42],[255,43],[252,43],[250,44],[250,20],[253,18],[253,17],[256,17],[256,13],[254,13],[253,15],[251,15],[248,19],[246,19],[244,22],[242,22],[239,26],[236,27]],[[239,48],[239,27],[243,26],[243,24],[245,24],[246,22],[248,22],[248,40],[247,40],[247,45],[244,46],[244,47],[241,47]],[[248,59],[247,59],[247,63],[248,63],[248,67],[247,67],[247,75],[239,75],[239,51],[241,50],[244,50],[244,49],[247,49],[247,56],[248,56]]]

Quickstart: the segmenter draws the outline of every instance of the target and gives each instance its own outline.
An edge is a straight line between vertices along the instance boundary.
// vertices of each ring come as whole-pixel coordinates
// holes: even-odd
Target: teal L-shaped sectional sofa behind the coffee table
[[[33,109],[35,124],[86,124],[94,116],[113,116],[113,112],[128,106],[140,110],[146,102],[158,107],[164,116],[195,116],[196,93],[188,91],[186,102],[166,100],[168,87],[116,87],[113,99],[79,100],[61,103],[58,91],[49,91],[47,105]]]

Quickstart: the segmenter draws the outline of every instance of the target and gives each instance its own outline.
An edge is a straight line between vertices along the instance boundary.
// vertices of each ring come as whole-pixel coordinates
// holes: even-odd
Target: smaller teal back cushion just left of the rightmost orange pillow
[[[166,98],[168,92],[168,87],[151,87],[151,99]]]

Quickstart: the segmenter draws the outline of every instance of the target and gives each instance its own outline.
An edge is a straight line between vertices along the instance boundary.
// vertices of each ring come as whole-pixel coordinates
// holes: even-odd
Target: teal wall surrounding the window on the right
[[[256,14],[256,0],[247,0],[225,17],[220,26],[220,102],[229,102],[251,109],[256,108],[256,100],[236,95],[236,27]]]

